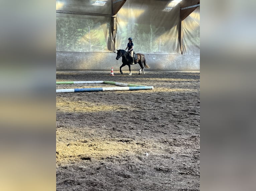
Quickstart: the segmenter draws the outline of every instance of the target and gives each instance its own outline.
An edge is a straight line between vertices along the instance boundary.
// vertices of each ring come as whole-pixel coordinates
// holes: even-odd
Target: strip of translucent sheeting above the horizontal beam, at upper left
[[[56,10],[111,14],[111,0],[56,0]]]

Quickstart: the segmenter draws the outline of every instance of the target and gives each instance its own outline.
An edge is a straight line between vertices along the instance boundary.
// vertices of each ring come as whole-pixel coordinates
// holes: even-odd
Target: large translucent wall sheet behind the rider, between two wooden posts
[[[168,1],[126,1],[117,13],[116,49],[125,49],[132,37],[136,53],[180,54],[179,9]]]

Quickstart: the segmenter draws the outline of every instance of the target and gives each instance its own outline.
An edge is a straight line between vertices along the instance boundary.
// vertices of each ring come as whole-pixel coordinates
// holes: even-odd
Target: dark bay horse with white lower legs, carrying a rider
[[[136,59],[136,60],[134,59],[134,64],[139,63],[139,65],[140,65],[139,75],[141,74],[141,70],[142,70],[142,74],[145,74],[144,73],[144,67],[150,68],[147,65],[147,62],[146,62],[146,59],[145,59],[145,55],[144,54],[139,54],[139,53],[137,53],[136,55],[137,55],[138,59]],[[131,73],[131,61],[132,61],[132,58],[130,57],[130,54],[128,52],[126,52],[125,50],[117,50],[116,59],[118,60],[121,57],[122,57],[122,63],[123,64],[122,64],[122,66],[120,66],[120,73],[123,74],[121,68],[124,67],[125,65],[128,65],[129,71],[130,71],[129,75],[132,75],[132,73]],[[143,64],[144,64],[144,67],[143,67]]]

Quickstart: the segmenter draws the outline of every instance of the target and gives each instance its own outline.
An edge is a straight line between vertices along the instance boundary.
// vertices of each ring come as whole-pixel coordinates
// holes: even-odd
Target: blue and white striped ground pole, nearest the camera
[[[153,86],[56,89],[56,93],[153,90]]]

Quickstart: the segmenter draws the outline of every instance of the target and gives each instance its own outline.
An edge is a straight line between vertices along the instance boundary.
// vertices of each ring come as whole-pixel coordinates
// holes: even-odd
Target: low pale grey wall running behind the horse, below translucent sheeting
[[[200,70],[200,55],[144,54],[151,70]],[[116,60],[116,53],[56,52],[57,70],[110,70],[119,68],[122,59]],[[153,59],[155,56],[155,59]],[[123,70],[128,69],[124,66]],[[139,65],[132,70],[140,69]],[[150,70],[145,69],[145,70]]]

